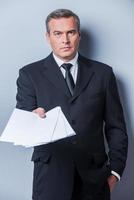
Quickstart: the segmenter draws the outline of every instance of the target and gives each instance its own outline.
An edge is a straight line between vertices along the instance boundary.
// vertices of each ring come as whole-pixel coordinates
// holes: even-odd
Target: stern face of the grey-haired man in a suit
[[[80,34],[73,17],[51,19],[46,34],[54,54],[67,62],[74,58],[79,47]]]

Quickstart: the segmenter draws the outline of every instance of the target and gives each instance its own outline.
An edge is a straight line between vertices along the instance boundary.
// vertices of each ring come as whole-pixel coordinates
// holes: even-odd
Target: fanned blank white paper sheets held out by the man
[[[60,107],[46,113],[45,118],[15,108],[0,141],[33,147],[75,135]]]

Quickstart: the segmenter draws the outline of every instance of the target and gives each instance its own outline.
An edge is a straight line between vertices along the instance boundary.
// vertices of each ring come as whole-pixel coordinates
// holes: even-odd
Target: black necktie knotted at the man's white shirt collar
[[[70,69],[72,66],[73,65],[71,63],[64,63],[61,65],[61,67],[63,67],[66,70],[65,80],[66,80],[66,83],[67,83],[67,86],[69,88],[71,95],[73,95],[74,86],[75,86],[72,74],[70,72]]]

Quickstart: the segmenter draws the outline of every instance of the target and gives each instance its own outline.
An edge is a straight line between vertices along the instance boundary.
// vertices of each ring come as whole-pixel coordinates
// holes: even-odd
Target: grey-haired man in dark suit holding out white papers
[[[72,11],[50,13],[46,29],[52,53],[20,70],[17,108],[45,117],[61,106],[76,136],[34,148],[33,200],[109,200],[127,157],[115,76],[78,53],[80,21]]]

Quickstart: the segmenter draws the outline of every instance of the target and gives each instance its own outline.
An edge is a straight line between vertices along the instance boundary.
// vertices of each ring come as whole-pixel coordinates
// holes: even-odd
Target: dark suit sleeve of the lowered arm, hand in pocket
[[[106,89],[105,135],[109,146],[111,170],[122,176],[127,158],[128,137],[113,71],[110,73]]]

